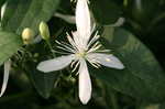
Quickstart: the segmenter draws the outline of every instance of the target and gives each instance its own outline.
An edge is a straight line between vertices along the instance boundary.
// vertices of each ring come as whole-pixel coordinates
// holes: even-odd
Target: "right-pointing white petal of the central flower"
[[[87,55],[88,61],[96,61],[99,64],[117,69],[123,69],[124,65],[112,54],[91,53]]]

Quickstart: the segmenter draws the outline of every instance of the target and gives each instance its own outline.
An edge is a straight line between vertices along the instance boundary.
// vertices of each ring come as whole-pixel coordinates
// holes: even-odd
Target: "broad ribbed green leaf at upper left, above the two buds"
[[[22,33],[24,28],[38,30],[41,21],[48,21],[59,0],[8,0],[2,25],[4,30]]]

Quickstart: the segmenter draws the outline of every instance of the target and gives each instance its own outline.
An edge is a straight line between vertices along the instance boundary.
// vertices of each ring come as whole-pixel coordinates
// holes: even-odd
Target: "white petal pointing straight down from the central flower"
[[[87,64],[82,59],[79,67],[79,99],[86,105],[91,98],[91,80],[88,73]]]

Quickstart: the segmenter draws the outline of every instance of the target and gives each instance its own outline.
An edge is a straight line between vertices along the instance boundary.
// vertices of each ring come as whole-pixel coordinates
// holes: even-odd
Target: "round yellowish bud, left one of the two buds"
[[[34,32],[30,28],[25,28],[22,32],[22,40],[24,44],[31,44],[34,39]]]

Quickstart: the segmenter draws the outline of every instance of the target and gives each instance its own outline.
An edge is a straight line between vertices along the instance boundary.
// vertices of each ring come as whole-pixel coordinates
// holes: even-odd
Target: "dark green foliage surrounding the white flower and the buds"
[[[1,109],[164,109],[164,0],[90,0],[101,44],[125,68],[89,68],[94,92],[87,106],[79,102],[78,78],[70,74],[69,67],[50,74],[36,69],[41,61],[59,55],[52,51],[56,47],[55,40],[66,42],[65,33],[75,30],[75,24],[55,17],[57,12],[74,15],[74,0],[72,3],[69,0],[0,0],[0,7],[4,2],[0,78],[8,58],[12,59],[12,70],[7,92],[0,98]],[[121,17],[125,21],[123,25],[110,26]],[[41,21],[50,26],[50,43],[37,41],[23,45],[22,31],[30,28],[37,37]]]

